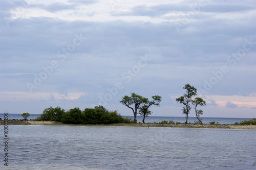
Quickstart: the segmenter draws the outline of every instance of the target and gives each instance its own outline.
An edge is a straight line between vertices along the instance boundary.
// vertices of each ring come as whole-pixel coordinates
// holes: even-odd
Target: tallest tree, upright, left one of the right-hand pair
[[[197,89],[194,86],[190,86],[189,84],[186,84],[183,87],[183,89],[186,89],[186,93],[184,93],[184,95],[180,96],[180,98],[177,98],[176,101],[178,103],[182,103],[184,105],[182,111],[183,111],[183,114],[186,114],[185,124],[187,124],[188,114],[191,109],[189,103],[191,102],[191,98],[193,96],[197,95]]]

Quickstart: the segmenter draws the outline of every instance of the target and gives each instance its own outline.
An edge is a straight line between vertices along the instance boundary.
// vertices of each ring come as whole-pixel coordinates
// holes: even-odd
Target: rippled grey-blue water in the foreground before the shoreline
[[[256,130],[12,125],[0,169],[256,169],[255,141]]]

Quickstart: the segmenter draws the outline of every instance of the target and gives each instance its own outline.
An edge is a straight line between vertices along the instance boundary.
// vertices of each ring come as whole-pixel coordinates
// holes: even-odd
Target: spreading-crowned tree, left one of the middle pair
[[[134,122],[137,123],[137,110],[141,104],[148,103],[148,99],[141,95],[131,93],[131,96],[123,96],[120,103],[133,110]]]

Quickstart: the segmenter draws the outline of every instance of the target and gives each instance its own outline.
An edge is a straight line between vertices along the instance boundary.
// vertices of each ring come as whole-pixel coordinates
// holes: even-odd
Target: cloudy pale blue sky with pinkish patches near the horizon
[[[185,116],[188,83],[203,117],[256,117],[255,1],[0,2],[1,113],[133,115],[119,101],[135,92],[162,96],[152,116]]]

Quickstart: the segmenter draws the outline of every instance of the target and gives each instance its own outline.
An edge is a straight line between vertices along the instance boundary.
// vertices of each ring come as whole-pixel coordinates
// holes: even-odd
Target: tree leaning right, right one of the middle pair
[[[148,108],[150,108],[152,105],[157,105],[159,106],[160,105],[160,102],[162,100],[162,97],[159,96],[159,95],[154,95],[152,96],[152,99],[153,101],[150,101],[150,102],[147,102],[147,103],[144,103],[140,108],[139,108],[139,114],[141,116],[143,116],[143,119],[142,119],[142,123],[144,124],[144,120],[145,120],[145,117],[147,117],[148,115],[151,115],[151,111],[148,110]]]

